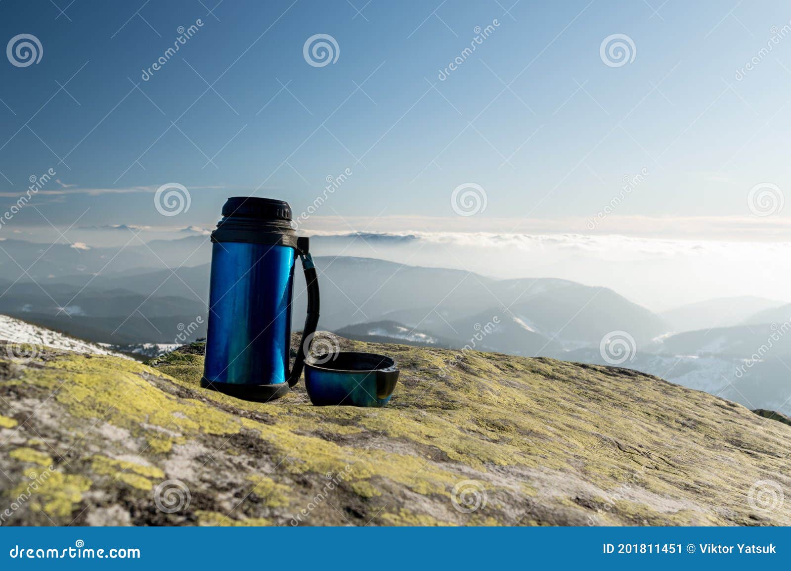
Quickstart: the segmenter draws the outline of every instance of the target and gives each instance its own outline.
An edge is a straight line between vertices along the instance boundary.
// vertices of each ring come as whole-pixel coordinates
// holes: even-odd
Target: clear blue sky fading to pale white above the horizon
[[[732,221],[777,234],[791,207],[756,217],[747,198],[789,182],[787,5],[514,1],[4,0],[3,44],[28,33],[43,54],[0,61],[0,210],[32,175],[54,168],[60,182],[0,232],[80,216],[208,225],[226,196],[250,193],[299,212],[350,169],[316,228],[585,233],[621,196],[596,232],[709,238]],[[335,39],[335,63],[308,65],[315,34]],[[619,67],[600,55],[613,34],[634,44]],[[190,209],[165,217],[153,191],[174,182]],[[460,216],[450,199],[467,183],[486,209]]]

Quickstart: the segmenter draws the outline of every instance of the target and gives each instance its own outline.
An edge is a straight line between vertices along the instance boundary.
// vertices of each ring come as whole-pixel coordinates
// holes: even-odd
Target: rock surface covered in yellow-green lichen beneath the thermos
[[[0,523],[791,524],[791,426],[741,405],[615,367],[317,339],[394,356],[390,404],[203,390],[199,344],[145,365],[0,342]]]

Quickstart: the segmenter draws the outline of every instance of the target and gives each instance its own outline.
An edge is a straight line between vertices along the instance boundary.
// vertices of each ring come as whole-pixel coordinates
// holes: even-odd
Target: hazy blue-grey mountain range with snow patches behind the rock
[[[338,239],[328,237],[325,246],[330,238]],[[204,236],[190,236],[126,249],[47,250],[4,240],[0,247],[32,268],[9,274],[19,266],[0,261],[0,314],[138,354],[205,337],[208,244]],[[186,249],[195,252],[189,261],[196,264],[178,267]],[[344,337],[613,364],[603,344],[626,333],[622,367],[751,408],[791,413],[791,304],[745,296],[656,314],[606,287],[570,280],[495,280],[369,257],[314,260],[320,328]],[[305,284],[297,269],[293,329],[301,329],[304,315]]]

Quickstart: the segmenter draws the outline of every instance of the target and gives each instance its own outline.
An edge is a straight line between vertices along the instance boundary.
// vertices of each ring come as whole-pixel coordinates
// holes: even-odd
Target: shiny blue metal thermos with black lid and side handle
[[[267,402],[297,383],[319,322],[319,284],[308,238],[297,238],[282,200],[234,196],[211,234],[206,361],[201,386]],[[302,341],[289,371],[296,259],[308,292]],[[306,343],[307,341],[307,343]]]

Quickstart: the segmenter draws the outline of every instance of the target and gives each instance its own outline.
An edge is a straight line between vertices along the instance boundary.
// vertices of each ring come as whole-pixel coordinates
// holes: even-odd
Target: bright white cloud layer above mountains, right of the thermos
[[[505,279],[563,278],[610,287],[653,310],[737,295],[791,300],[791,240],[490,232],[321,234],[327,239],[312,241],[319,255],[374,257]]]

